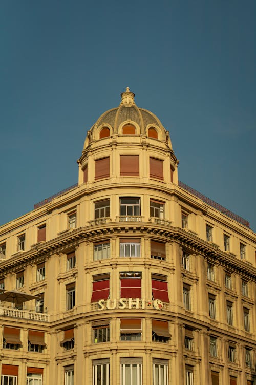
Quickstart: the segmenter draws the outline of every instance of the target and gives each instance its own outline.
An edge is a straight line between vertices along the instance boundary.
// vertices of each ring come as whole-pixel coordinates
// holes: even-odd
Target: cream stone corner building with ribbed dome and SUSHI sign
[[[178,182],[169,133],[129,88],[78,168],[0,227],[1,384],[255,384],[248,222]]]

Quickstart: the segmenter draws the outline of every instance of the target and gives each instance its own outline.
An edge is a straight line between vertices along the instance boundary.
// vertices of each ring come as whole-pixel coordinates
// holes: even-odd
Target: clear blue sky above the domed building
[[[77,182],[86,132],[129,86],[179,179],[256,229],[255,0],[0,3],[0,224]]]

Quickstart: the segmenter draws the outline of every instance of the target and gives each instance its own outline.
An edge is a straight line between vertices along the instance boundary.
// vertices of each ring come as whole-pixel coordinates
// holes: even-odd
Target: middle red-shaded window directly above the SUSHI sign
[[[141,298],[141,272],[120,273],[120,298]]]

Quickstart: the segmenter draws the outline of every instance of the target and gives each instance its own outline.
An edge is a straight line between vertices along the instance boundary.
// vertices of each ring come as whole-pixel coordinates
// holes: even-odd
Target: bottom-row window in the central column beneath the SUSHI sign
[[[142,358],[120,358],[121,385],[142,385]]]

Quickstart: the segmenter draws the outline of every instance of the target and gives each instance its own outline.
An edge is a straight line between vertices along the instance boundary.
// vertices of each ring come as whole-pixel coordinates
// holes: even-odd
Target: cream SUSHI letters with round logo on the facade
[[[160,299],[148,301],[141,298],[120,298],[120,299],[100,299],[98,301],[98,310],[113,309],[163,309],[163,302]]]

